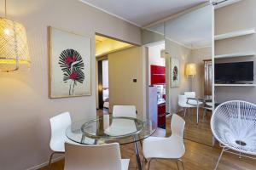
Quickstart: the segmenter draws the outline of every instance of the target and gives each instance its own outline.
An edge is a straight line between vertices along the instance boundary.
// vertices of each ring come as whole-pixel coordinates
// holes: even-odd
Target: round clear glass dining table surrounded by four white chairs
[[[132,117],[111,115],[96,116],[91,121],[80,120],[67,127],[68,139],[78,144],[134,144],[137,168],[142,169],[137,142],[151,136],[157,129],[157,122],[141,121]]]

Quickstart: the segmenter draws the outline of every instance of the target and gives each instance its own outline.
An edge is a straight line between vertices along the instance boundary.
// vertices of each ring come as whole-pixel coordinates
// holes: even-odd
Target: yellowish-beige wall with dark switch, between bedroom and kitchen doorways
[[[136,105],[138,117],[143,119],[145,67],[143,47],[128,48],[108,54],[109,105]],[[133,82],[137,79],[137,82]]]

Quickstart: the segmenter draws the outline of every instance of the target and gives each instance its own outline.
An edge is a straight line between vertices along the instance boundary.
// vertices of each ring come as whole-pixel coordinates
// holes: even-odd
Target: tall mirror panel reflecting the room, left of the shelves
[[[183,116],[185,139],[212,145],[212,6],[166,21],[164,35],[166,111]]]

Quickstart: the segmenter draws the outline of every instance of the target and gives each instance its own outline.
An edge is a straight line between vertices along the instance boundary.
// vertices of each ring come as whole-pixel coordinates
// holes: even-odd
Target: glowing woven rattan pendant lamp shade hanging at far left
[[[26,30],[13,20],[0,18],[0,71],[16,71],[29,68]]]

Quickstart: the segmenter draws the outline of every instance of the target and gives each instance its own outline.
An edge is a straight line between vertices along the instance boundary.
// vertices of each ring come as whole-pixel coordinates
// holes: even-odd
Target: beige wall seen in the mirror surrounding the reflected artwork
[[[166,39],[166,53],[168,53],[166,56],[166,95],[169,94],[169,99],[166,98],[166,111],[174,113],[178,111],[178,94],[189,91],[189,79],[185,76],[184,71],[185,65],[189,63],[191,58],[191,49]],[[178,88],[171,88],[170,57],[177,58],[180,62],[180,86]]]

